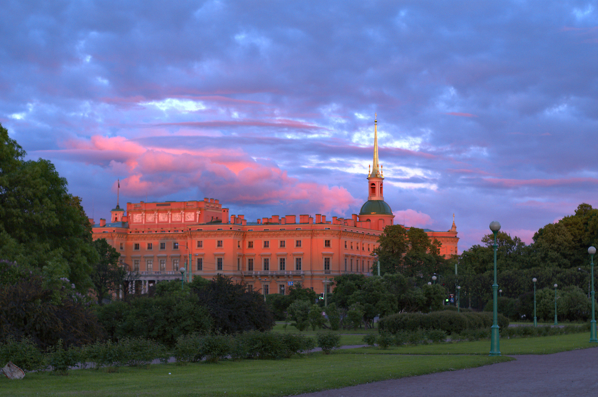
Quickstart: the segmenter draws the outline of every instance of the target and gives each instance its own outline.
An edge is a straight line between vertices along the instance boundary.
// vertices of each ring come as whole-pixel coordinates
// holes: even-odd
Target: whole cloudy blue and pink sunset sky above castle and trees
[[[597,1],[0,1],[0,123],[87,215],[350,217],[526,243],[598,206]]]

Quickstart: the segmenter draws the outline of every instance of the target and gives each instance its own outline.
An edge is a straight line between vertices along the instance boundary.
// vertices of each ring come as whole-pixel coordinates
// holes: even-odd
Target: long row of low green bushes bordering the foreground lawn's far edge
[[[0,344],[0,368],[8,361],[26,372],[52,369],[54,374],[68,374],[68,369],[106,368],[114,372],[118,367],[144,366],[154,359],[166,364],[171,356],[179,365],[189,362],[218,362],[231,359],[283,359],[308,353],[321,347],[325,354],[339,347],[340,335],[320,332],[316,338],[277,332],[248,331],[237,335],[182,335],[172,350],[163,344],[144,338],[121,338],[118,342],[97,341],[83,347],[65,347],[62,340],[47,350],[40,350],[32,338],[17,341],[8,338]]]

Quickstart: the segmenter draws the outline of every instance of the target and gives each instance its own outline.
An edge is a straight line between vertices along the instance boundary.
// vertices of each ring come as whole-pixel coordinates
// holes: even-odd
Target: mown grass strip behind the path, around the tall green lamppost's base
[[[535,338],[501,338],[502,355],[551,354],[567,350],[597,347],[590,343],[590,332],[568,335],[552,335]],[[343,354],[404,354],[404,355],[487,355],[490,352],[490,340],[457,343],[435,343],[419,346],[392,346],[388,350],[377,347],[339,350]]]

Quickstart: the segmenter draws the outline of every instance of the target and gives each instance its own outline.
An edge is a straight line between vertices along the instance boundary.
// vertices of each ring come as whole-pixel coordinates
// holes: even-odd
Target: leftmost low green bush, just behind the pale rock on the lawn
[[[9,361],[25,372],[41,371],[48,367],[44,354],[30,337],[23,337],[20,341],[8,337],[5,343],[0,344],[0,368]]]

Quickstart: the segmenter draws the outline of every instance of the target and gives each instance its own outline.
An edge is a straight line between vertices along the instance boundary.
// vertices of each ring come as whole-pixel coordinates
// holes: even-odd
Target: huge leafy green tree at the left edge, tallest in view
[[[0,258],[66,277],[86,292],[97,252],[80,198],[68,194],[50,161],[25,161],[1,125],[0,148]]]

